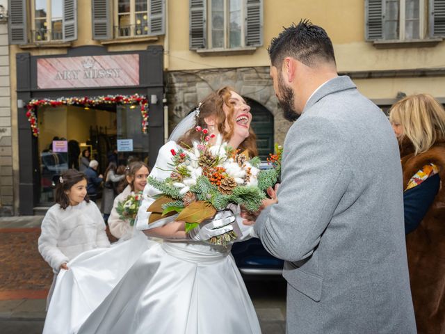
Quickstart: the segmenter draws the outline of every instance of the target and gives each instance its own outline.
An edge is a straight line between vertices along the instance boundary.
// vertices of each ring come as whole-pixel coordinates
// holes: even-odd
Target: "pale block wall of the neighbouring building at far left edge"
[[[8,21],[0,20],[0,216],[13,215]]]

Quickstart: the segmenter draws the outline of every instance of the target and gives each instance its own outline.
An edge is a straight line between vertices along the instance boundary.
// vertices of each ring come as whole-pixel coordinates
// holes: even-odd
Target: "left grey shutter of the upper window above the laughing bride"
[[[190,49],[207,47],[207,0],[190,0]]]

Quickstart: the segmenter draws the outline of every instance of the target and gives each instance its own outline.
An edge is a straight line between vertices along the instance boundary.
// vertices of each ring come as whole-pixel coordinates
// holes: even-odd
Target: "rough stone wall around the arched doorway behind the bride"
[[[259,102],[273,114],[275,143],[283,143],[291,126],[282,116],[269,67],[172,71],[166,73],[165,80],[170,132],[204,97],[223,86],[232,86],[237,93]]]

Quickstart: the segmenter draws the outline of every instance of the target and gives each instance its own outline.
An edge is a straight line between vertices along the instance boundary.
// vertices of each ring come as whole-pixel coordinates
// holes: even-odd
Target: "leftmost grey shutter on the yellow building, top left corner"
[[[26,44],[26,0],[9,0],[9,42]]]

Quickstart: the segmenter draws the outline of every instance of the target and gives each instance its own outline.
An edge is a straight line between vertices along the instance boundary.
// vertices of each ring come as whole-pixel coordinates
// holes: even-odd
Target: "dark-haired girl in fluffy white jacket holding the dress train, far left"
[[[93,248],[109,247],[102,214],[86,194],[86,177],[69,169],[59,178],[56,204],[49,208],[42,221],[38,239],[39,252],[54,271],[47,304],[60,269],[80,253]]]

